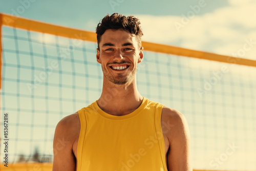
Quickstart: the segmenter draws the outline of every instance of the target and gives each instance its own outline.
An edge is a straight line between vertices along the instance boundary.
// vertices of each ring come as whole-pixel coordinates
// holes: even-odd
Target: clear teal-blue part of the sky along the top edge
[[[21,3],[26,2],[26,3]],[[28,3],[29,2],[29,3]],[[118,12],[122,14],[142,14],[142,15],[181,15],[186,12],[190,5],[197,4],[197,0],[172,0],[172,1],[127,1],[127,0],[111,0],[111,1],[40,1],[40,0],[22,0],[22,1],[1,1],[1,12],[14,14],[13,10],[18,15],[41,20],[47,23],[87,29],[84,23],[89,20],[97,22],[107,13]],[[24,12],[18,12],[17,8],[26,4]],[[199,15],[212,12],[217,8],[228,6],[228,2],[214,1],[210,7],[200,12]],[[178,8],[177,8],[178,7]],[[13,10],[12,10],[13,9]],[[90,27],[91,28],[91,27]],[[90,29],[89,28],[89,29]]]

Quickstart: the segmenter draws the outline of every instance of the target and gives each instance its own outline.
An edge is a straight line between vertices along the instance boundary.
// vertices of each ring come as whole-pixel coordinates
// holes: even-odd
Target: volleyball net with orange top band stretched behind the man
[[[101,95],[96,34],[6,14],[0,23],[0,168],[11,170],[3,166],[8,139],[10,166],[30,170],[52,163],[57,122]],[[139,92],[186,117],[193,168],[255,170],[256,61],[150,42],[142,46]]]

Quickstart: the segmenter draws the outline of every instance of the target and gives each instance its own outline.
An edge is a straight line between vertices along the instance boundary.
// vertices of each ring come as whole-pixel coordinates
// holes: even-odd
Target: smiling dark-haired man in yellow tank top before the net
[[[54,135],[53,170],[191,171],[185,117],[141,96],[136,85],[143,35],[133,16],[114,13],[98,24],[98,100],[63,118]]]

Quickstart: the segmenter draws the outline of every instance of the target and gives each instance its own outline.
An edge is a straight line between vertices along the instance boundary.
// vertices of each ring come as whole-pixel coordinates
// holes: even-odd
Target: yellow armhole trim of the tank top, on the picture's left
[[[82,147],[83,147],[84,137],[86,134],[87,121],[86,121],[86,113],[83,108],[77,112],[80,119],[80,134],[79,134],[78,144],[77,144],[77,171],[81,171]]]

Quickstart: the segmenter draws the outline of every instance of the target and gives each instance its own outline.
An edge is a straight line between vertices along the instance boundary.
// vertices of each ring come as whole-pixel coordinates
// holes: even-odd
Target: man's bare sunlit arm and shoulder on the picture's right
[[[168,171],[192,171],[189,157],[190,135],[186,118],[179,112],[164,106],[168,123],[174,125],[169,130],[167,137],[169,140],[169,150],[167,152]]]

